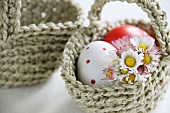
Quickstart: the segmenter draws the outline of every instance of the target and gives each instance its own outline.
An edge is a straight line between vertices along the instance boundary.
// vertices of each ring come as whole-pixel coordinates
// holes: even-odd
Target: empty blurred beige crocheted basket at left
[[[82,22],[69,0],[0,0],[0,87],[46,80]]]

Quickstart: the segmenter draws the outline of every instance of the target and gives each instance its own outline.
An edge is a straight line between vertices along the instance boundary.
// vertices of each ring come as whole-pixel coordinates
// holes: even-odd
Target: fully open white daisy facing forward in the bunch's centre
[[[121,54],[120,65],[124,69],[129,69],[131,71],[137,71],[137,68],[143,64],[143,53],[138,54],[137,51],[129,49]]]

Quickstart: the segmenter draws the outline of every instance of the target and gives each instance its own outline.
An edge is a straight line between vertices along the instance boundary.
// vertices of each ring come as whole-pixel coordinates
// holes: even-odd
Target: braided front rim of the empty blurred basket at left
[[[20,30],[18,31],[18,33],[16,33],[16,35],[23,34],[25,32],[37,32],[37,31],[40,32],[40,31],[49,30],[49,29],[51,30],[51,32],[59,31],[59,30],[67,30],[68,33],[63,33],[63,34],[72,34],[72,33],[69,33],[69,31],[72,31],[72,29],[75,29],[75,28],[79,28],[80,26],[82,26],[82,24],[84,24],[84,19],[85,19],[84,12],[81,9],[80,4],[70,1],[70,0],[64,0],[64,1],[70,2],[72,6],[76,7],[76,9],[78,11],[76,21],[72,22],[72,21],[68,20],[63,23],[62,22],[58,22],[58,23],[47,22],[47,23],[38,23],[38,24],[32,23],[29,25],[21,26]],[[52,33],[52,34],[54,34],[54,33]],[[57,32],[55,34],[61,35],[60,33],[57,33]]]

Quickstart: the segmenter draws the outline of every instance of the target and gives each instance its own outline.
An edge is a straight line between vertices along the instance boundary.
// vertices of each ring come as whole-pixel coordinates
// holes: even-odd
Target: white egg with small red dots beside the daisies
[[[103,74],[105,68],[103,62],[109,51],[115,48],[104,41],[95,41],[88,44],[79,55],[77,63],[77,77],[84,85],[90,86],[109,86],[110,83],[106,80],[106,75]]]

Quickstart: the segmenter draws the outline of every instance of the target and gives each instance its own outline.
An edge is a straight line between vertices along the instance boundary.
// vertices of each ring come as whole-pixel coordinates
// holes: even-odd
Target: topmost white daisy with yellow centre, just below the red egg
[[[155,39],[150,36],[135,36],[130,38],[130,42],[139,52],[147,52],[154,46]]]

